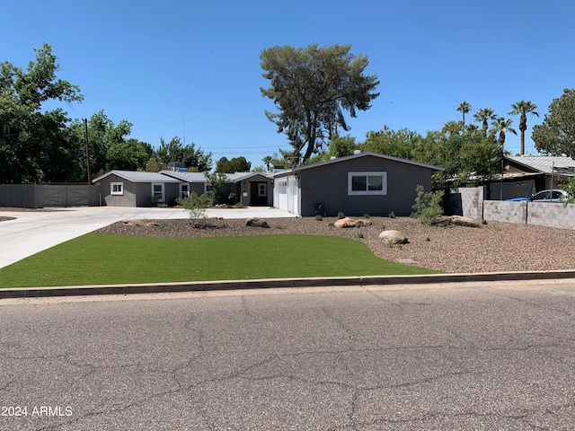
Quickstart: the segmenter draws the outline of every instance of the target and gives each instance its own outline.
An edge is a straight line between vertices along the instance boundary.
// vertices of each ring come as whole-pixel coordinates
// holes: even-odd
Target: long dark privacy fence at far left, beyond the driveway
[[[0,184],[0,207],[97,207],[100,186]]]

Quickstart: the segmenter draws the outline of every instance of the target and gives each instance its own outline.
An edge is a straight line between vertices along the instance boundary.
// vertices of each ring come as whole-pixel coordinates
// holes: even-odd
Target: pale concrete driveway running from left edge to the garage
[[[14,217],[14,220],[0,222],[0,268],[126,218],[188,218],[188,213],[176,208],[78,207],[53,208],[51,211],[0,211],[2,216]],[[209,209],[208,216],[247,219],[295,215],[276,208],[247,207]]]

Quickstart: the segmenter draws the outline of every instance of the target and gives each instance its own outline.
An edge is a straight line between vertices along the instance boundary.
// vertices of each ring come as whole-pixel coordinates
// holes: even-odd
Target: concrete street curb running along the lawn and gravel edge
[[[269,289],[279,287],[324,286],[387,286],[423,285],[435,283],[462,283],[482,281],[532,281],[574,278],[575,270],[484,272],[466,274],[429,274],[424,276],[366,276],[366,277],[314,277],[270,278],[258,280],[199,281],[183,283],[150,283],[97,286],[13,287],[0,288],[0,299],[49,296],[132,295],[180,292],[203,292],[237,289]]]

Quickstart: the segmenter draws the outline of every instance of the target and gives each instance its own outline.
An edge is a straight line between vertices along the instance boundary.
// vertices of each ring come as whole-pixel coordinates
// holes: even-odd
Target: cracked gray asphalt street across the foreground
[[[575,423],[574,280],[3,299],[0,321],[2,430]]]

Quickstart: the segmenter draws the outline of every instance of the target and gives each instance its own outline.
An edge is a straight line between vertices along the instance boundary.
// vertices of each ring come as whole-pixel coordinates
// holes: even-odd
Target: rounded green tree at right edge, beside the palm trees
[[[561,97],[553,99],[549,114],[533,128],[531,137],[537,151],[575,156],[575,88],[565,88]]]

